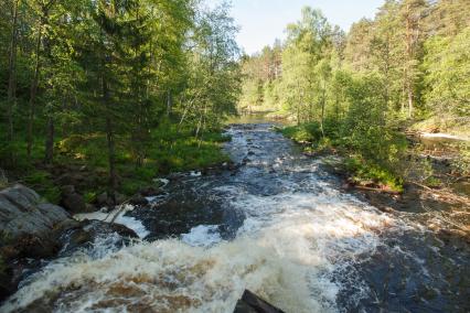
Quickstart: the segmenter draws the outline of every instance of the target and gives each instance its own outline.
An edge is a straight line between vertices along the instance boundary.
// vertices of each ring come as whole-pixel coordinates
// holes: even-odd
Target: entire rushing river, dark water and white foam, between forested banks
[[[0,311],[232,312],[245,289],[292,313],[470,311],[467,246],[344,193],[269,123],[227,132],[238,170],[172,175],[126,213],[143,240],[98,238]]]

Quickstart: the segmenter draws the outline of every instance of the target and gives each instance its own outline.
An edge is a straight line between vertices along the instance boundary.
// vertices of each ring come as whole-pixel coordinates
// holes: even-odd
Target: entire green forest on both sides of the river
[[[400,188],[404,131],[468,136],[470,2],[388,0],[349,33],[305,8],[287,39],[242,55],[229,6],[7,0],[0,8],[0,169],[52,201],[87,199],[227,161],[224,119],[268,111],[309,149]],[[459,161],[468,171],[470,153]],[[2,171],[3,171],[2,170]]]

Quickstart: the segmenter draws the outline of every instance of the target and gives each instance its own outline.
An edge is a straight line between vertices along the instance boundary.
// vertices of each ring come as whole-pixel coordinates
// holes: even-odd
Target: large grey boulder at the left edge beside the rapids
[[[0,301],[17,290],[22,276],[18,259],[53,257],[61,249],[53,235],[57,225],[72,220],[60,206],[41,203],[40,196],[23,185],[0,192]]]

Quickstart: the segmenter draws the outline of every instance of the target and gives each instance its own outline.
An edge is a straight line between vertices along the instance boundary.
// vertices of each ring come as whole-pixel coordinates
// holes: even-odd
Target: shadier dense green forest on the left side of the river
[[[56,201],[51,164],[97,174],[83,183],[93,197],[103,186],[131,194],[158,173],[226,159],[218,129],[241,84],[227,6],[0,6],[0,168],[10,176]]]

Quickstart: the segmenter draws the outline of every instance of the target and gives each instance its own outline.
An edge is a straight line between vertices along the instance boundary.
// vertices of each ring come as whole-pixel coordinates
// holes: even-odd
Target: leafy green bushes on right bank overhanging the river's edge
[[[407,142],[387,122],[387,109],[375,76],[356,75],[344,85],[349,106],[341,118],[331,116],[323,123],[310,122],[288,127],[281,132],[298,141],[313,143],[317,151],[334,147],[345,155],[346,169],[357,181],[373,181],[402,191],[403,182],[396,164],[404,155]],[[323,131],[322,131],[323,129]]]

